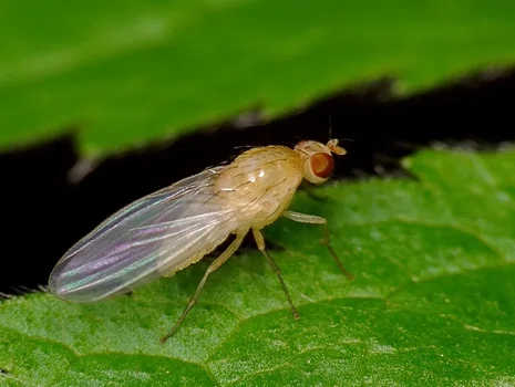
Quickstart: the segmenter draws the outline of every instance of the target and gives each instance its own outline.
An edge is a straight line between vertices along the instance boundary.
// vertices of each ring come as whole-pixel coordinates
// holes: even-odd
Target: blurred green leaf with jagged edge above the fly
[[[81,128],[105,153],[394,75],[409,92],[515,59],[515,2],[0,4],[0,147]]]

